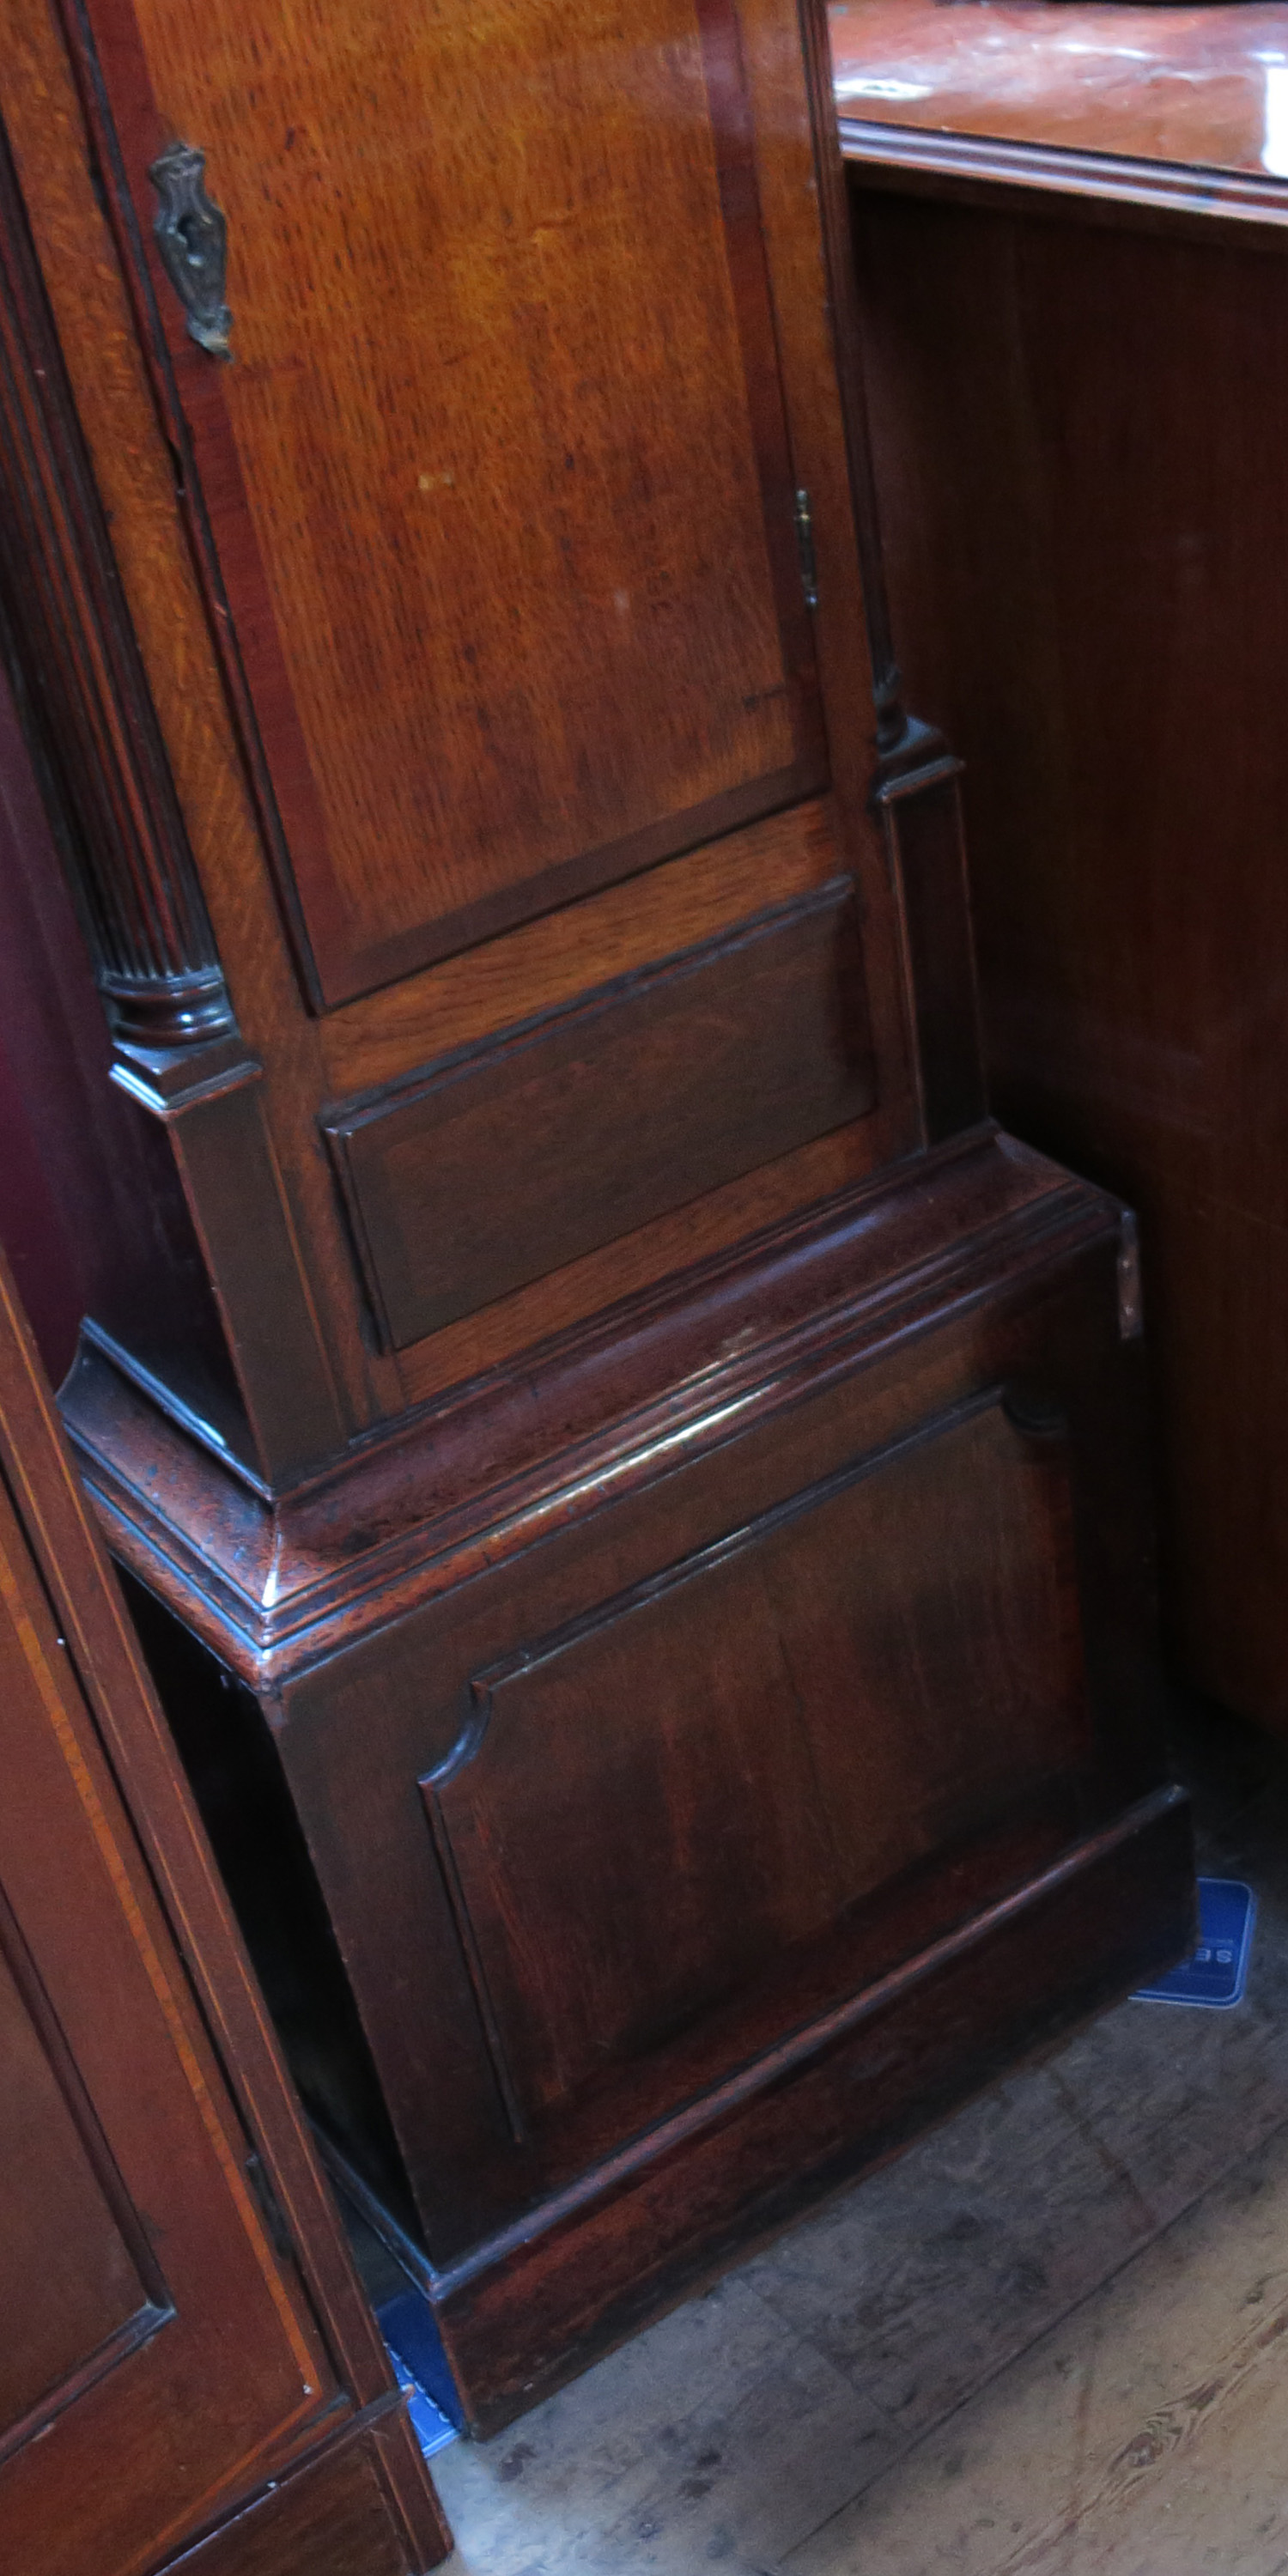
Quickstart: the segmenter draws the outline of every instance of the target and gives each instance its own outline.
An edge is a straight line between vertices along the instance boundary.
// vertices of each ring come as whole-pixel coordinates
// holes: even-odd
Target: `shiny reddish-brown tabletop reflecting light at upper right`
[[[1288,180],[1288,8],[835,0],[842,118]]]

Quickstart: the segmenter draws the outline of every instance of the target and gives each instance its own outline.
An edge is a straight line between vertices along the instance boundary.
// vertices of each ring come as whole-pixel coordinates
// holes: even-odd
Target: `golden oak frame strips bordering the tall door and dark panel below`
[[[469,1332],[451,1327],[448,1342],[415,1352],[407,1368],[399,1370],[363,1347],[361,1288],[343,1239],[340,1206],[330,1188],[325,1157],[317,1149],[314,1123],[317,1103],[327,1095],[335,1097],[335,1090],[345,1087],[345,1082],[337,1084],[335,1072],[322,1064],[317,1023],[309,1023],[291,997],[278,920],[265,889],[263,850],[255,848],[250,832],[229,726],[219,706],[216,665],[209,639],[201,634],[196,587],[180,541],[185,497],[175,492],[165,438],[157,433],[157,417],[142,386],[139,353],[131,343],[113,242],[85,175],[85,139],[67,80],[67,62],[44,18],[21,18],[21,23],[5,28],[5,41],[13,46],[13,64],[21,67],[21,80],[15,77],[10,100],[15,155],[93,469],[111,510],[124,595],[137,623],[147,680],[162,719],[183,819],[198,855],[240,1023],[265,1066],[263,1115],[273,1167],[281,1177],[281,1203],[289,1234],[294,1236],[294,1257],[304,1275],[307,1332],[325,1350],[325,1368],[335,1373],[343,1425],[358,1427],[379,1412],[397,1412],[402,1404],[422,1399],[461,1373],[489,1365],[523,1342],[569,1324],[595,1303],[636,1291],[667,1267],[703,1257],[719,1244],[732,1242],[737,1231],[775,1221],[791,1206],[853,1182],[884,1154],[902,1151],[912,1141],[914,1103],[909,1100],[904,1064],[907,1020],[899,984],[886,981],[896,953],[896,930],[878,835],[863,814],[868,742],[866,724],[855,724],[855,708],[866,703],[868,677],[863,636],[853,616],[855,590],[848,574],[853,564],[853,536],[848,533],[850,495],[845,461],[835,446],[840,438],[840,407],[832,374],[835,350],[827,281],[809,222],[814,144],[809,98],[796,59],[799,39],[791,13],[786,15],[775,0],[773,8],[757,10],[755,21],[747,18],[742,41],[755,108],[755,185],[770,263],[775,335],[783,350],[791,448],[796,469],[809,474],[814,495],[814,528],[824,585],[817,631],[835,760],[840,762],[837,781],[842,786],[842,811],[837,817],[840,845],[845,863],[855,868],[866,907],[871,1012],[881,1061],[878,1108],[868,1133],[853,1131],[842,1136],[837,1131],[822,1149],[778,1157],[773,1167],[762,1167],[765,1180],[760,1188],[744,1182],[724,1185],[711,1193],[706,1206],[688,1203],[677,1218],[659,1218],[649,1229],[636,1229],[623,1242],[621,1260],[613,1260],[608,1247],[587,1255],[551,1275],[549,1291],[538,1296],[518,1291],[513,1301],[495,1301],[487,1329]],[[52,137],[57,137],[57,149],[52,149]],[[93,245],[88,265],[85,245]],[[147,312],[142,312],[142,322],[147,335]],[[201,363],[201,353],[191,345],[185,345],[185,355]],[[170,435],[185,438],[183,422],[175,422],[170,415],[167,428]],[[603,925],[592,920],[592,907],[574,907],[572,914],[564,912],[569,920],[567,953],[559,953],[559,917],[551,917],[533,925],[536,938],[528,958],[507,953],[507,943],[495,940],[479,951],[477,981],[474,961],[461,961],[461,981],[453,981],[446,994],[446,1038],[433,1038],[430,1051],[440,1043],[484,1036],[492,1005],[492,1028],[513,1020],[515,1002],[520,1010],[533,1007],[518,989],[528,969],[533,981],[546,992],[546,999],[567,999],[605,971],[629,971],[649,963],[649,948],[657,958],[677,938],[706,935],[719,925],[711,914],[716,914],[716,907],[724,907],[724,894],[716,894],[721,866],[729,866],[726,920],[755,909],[762,899],[791,891],[773,873],[768,878],[757,876],[762,866],[778,871],[781,860],[775,853],[786,863],[793,832],[791,819],[778,817],[755,829],[760,840],[755,850],[747,850],[750,876],[742,899],[732,881],[737,835],[726,835],[726,860],[711,858],[711,878],[703,873],[708,860],[703,850],[693,853],[693,884],[680,868],[652,896],[649,881],[657,871],[647,871],[621,889],[629,902],[621,914]],[[659,873],[665,876],[667,871]],[[693,886],[703,889],[696,902],[690,902]],[[634,909],[636,894],[639,909]],[[649,902],[654,909],[649,909]],[[675,907],[672,920],[667,920],[670,907]],[[603,940],[600,927],[605,930]],[[577,956],[585,956],[587,969],[580,981]],[[438,997],[425,987],[422,999],[425,1007],[433,1007]],[[402,992],[392,989],[389,1002],[399,1005],[392,1015],[392,1028],[402,1028]],[[541,1007],[541,994],[536,1007]],[[415,1025],[417,1012],[420,997],[407,987],[407,1028]],[[379,1046],[379,1020],[368,1023],[368,1033]],[[392,1048],[397,1043],[392,1041]],[[425,1043],[412,1038],[402,1064],[389,1064],[386,1069],[407,1069],[407,1064],[422,1061],[425,1054]],[[384,1072],[376,1077],[363,1072],[358,1079],[381,1077]],[[118,1334],[118,1340],[126,1337]],[[162,1370],[160,1386],[165,1388],[165,1383]]]

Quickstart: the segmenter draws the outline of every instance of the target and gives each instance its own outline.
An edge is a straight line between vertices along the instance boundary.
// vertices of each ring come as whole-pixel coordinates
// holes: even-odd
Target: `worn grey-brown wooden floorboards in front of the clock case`
[[[1288,1770],[1188,1759],[1247,2004],[1123,2004],[446,2450],[448,2576],[1288,2571]]]

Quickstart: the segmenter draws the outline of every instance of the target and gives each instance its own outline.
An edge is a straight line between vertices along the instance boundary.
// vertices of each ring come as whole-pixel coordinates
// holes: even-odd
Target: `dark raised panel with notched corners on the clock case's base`
[[[951,1417],[471,1698],[422,1788],[526,2130],[1084,1757],[1066,1455]]]

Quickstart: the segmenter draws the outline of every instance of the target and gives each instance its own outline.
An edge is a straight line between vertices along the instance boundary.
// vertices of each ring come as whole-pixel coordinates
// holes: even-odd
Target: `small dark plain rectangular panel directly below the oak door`
[[[873,1105],[853,886],[325,1121],[402,1347]]]

